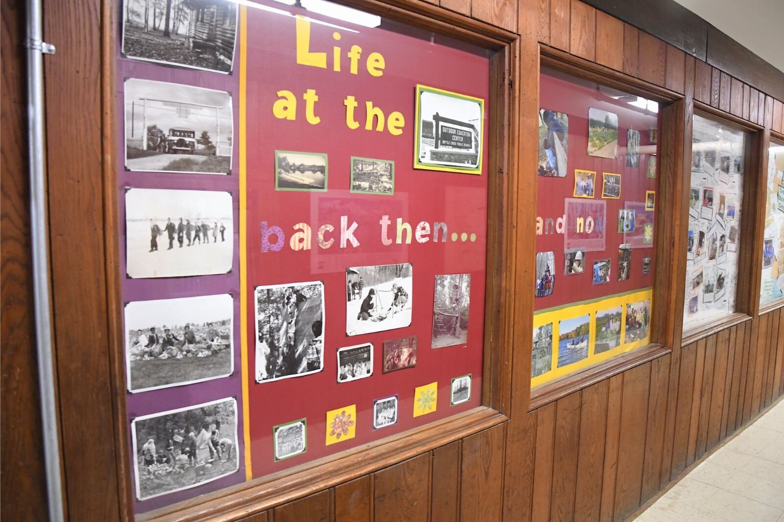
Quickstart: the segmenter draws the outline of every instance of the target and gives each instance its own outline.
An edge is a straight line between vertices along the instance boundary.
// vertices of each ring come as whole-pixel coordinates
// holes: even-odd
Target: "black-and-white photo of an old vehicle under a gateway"
[[[228,92],[125,80],[125,169],[229,174],[233,142]]]

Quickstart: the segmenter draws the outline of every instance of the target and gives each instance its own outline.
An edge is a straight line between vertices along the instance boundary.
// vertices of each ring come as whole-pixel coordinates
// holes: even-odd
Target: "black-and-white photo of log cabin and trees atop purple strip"
[[[234,63],[237,3],[125,0],[122,53],[129,58],[227,74]]]

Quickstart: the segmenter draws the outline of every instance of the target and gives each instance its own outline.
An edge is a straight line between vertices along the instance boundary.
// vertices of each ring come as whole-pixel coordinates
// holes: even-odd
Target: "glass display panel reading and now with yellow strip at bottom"
[[[543,68],[531,385],[649,343],[659,106]]]

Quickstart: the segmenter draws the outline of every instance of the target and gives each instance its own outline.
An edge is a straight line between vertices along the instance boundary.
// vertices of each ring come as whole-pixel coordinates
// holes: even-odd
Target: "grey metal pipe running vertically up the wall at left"
[[[30,163],[30,222],[33,258],[35,345],[38,355],[38,390],[46,469],[49,520],[61,522],[63,489],[60,447],[57,437],[52,316],[49,308],[49,223],[46,217],[46,164],[44,140],[43,54],[54,54],[54,46],[43,42],[42,5],[27,0],[27,150]]]

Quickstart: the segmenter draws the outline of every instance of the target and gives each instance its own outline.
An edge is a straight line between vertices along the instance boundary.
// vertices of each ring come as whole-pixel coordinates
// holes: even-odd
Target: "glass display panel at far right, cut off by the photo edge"
[[[760,306],[784,303],[784,142],[771,140],[765,183]]]

